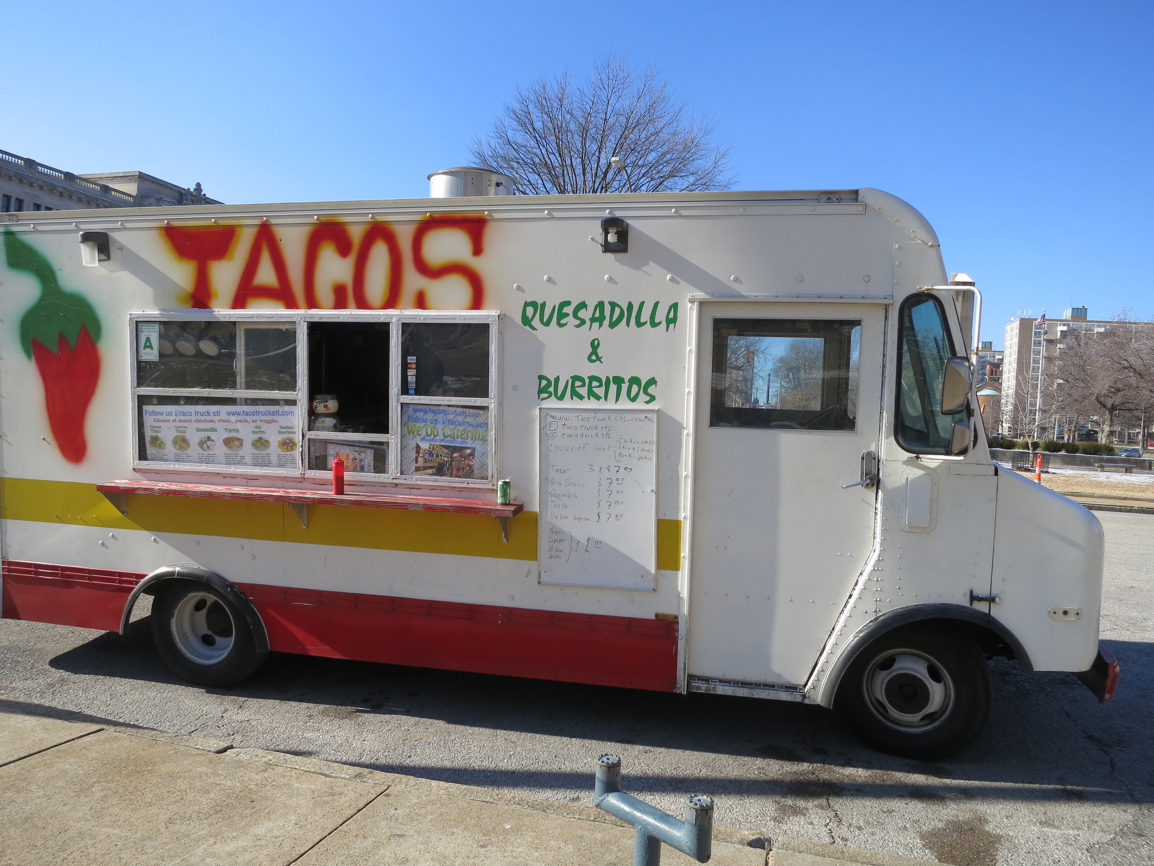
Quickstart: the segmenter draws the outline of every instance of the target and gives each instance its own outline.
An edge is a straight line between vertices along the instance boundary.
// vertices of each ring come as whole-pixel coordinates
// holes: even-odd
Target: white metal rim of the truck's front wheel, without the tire
[[[899,731],[929,731],[953,709],[950,674],[916,650],[886,650],[874,659],[862,685],[874,715]]]

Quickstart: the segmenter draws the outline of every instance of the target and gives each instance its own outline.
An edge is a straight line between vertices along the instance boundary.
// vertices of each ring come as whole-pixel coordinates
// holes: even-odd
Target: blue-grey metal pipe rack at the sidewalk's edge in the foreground
[[[713,844],[713,800],[710,797],[690,797],[685,804],[685,820],[679,821],[621,790],[621,759],[616,755],[601,755],[595,769],[593,805],[637,830],[634,866],[659,866],[662,842],[698,863],[709,863]]]

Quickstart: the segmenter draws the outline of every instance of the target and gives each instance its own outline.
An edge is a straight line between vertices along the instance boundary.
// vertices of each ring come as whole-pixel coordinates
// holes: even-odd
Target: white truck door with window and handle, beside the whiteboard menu
[[[697,306],[690,688],[801,686],[875,545],[887,306]]]

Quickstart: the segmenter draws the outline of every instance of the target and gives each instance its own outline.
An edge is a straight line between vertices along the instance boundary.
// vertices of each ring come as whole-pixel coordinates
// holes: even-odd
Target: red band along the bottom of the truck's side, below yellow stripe
[[[115,632],[137,572],[3,561],[6,619]],[[677,622],[238,583],[273,650],[673,692]]]

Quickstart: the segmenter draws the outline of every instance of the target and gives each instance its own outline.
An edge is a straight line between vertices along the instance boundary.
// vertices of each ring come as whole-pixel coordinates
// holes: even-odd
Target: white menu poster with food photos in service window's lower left
[[[297,469],[297,406],[141,406],[150,461]]]

